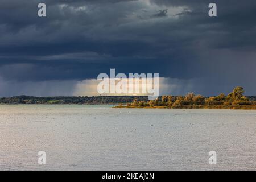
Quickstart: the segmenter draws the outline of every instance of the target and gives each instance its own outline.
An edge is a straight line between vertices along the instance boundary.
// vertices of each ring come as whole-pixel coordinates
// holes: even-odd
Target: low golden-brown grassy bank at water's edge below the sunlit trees
[[[256,105],[188,105],[188,106],[125,106],[118,105],[113,108],[140,108],[140,109],[242,109],[242,110],[256,110]]]

